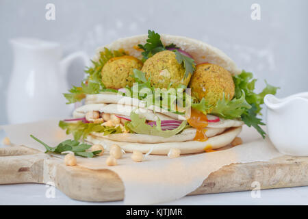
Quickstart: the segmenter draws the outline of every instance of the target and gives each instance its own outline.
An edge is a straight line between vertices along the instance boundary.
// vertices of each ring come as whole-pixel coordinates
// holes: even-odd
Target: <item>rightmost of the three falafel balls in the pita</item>
[[[203,97],[210,105],[216,105],[224,93],[226,99],[232,99],[235,86],[231,73],[216,64],[198,64],[190,81],[192,96],[201,101]]]

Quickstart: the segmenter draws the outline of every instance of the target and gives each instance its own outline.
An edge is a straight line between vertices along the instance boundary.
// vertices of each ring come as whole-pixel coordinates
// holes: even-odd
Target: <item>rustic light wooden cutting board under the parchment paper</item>
[[[308,185],[308,157],[283,156],[270,162],[231,164],[212,172],[188,195]],[[81,201],[120,201],[124,185],[112,170],[65,166],[62,159],[26,146],[0,149],[0,184],[54,183],[70,198]],[[254,185],[255,186],[255,185]]]

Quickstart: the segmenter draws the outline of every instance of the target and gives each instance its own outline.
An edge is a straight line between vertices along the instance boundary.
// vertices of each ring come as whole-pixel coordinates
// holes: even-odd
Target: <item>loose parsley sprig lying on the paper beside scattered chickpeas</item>
[[[64,151],[72,151],[73,153],[75,153],[75,155],[81,156],[81,157],[94,157],[94,156],[97,156],[99,153],[101,153],[101,150],[91,151],[91,152],[86,151],[90,149],[92,145],[86,144],[86,143],[80,143],[80,142],[77,142],[76,140],[65,140],[64,142],[61,142],[57,146],[51,147],[32,135],[30,135],[30,137],[45,147],[46,149],[45,153],[51,152],[51,153],[60,154]]]

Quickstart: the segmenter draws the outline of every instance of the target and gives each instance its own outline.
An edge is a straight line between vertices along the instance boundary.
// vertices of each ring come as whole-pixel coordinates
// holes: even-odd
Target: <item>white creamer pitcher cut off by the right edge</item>
[[[270,140],[280,153],[308,156],[308,92],[278,99],[264,97]]]

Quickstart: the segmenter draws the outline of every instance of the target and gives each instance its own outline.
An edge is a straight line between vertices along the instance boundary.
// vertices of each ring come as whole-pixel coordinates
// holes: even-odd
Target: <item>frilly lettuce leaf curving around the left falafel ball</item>
[[[73,88],[68,90],[69,93],[64,94],[64,97],[68,100],[66,104],[79,102],[86,98],[86,94],[98,94],[99,92],[105,91],[117,92],[117,90],[105,88],[101,81],[101,70],[112,57],[123,55],[127,55],[123,50],[110,51],[105,48],[104,51],[101,51],[99,61],[92,61],[93,66],[85,70],[87,78],[81,82],[81,86],[73,86]]]

